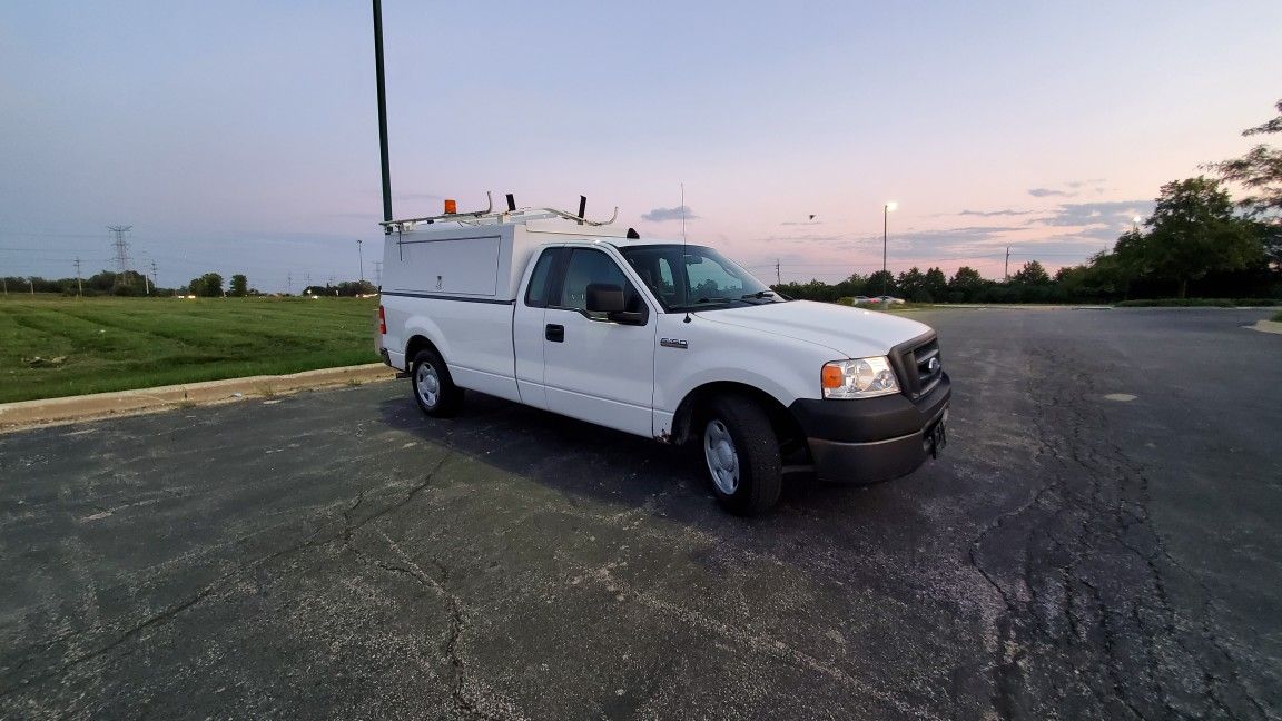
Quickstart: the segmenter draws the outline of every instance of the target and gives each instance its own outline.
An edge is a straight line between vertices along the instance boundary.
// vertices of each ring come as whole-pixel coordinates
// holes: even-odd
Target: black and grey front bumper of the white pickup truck
[[[790,411],[810,444],[820,480],[877,484],[912,473],[937,452],[937,434],[953,396],[947,373],[929,393],[909,399],[799,399]]]

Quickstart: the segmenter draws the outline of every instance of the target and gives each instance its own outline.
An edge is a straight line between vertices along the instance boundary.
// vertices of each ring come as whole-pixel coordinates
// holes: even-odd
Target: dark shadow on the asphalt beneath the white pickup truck
[[[454,418],[429,418],[409,394],[379,404],[383,423],[426,443],[444,445],[508,473],[609,504],[636,507],[669,521],[701,527],[737,526],[776,530],[817,520],[841,526],[896,525],[917,514],[915,504],[896,482],[858,488],[819,484],[806,475],[785,480],[774,512],[737,518],[717,503],[701,472],[697,450],[674,448],[468,391]]]

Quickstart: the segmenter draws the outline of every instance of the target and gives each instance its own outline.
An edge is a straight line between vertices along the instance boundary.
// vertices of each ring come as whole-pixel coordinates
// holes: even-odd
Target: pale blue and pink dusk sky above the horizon
[[[1282,3],[383,1],[394,208],[619,208],[773,282],[1111,245],[1282,98]],[[381,255],[369,3],[0,5],[0,276]],[[812,219],[813,216],[813,219]]]

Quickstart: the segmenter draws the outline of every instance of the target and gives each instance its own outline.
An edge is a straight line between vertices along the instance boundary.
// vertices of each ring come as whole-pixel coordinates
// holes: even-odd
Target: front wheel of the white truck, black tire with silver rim
[[[713,493],[729,512],[755,516],[779,500],[779,443],[760,405],[737,395],[713,399],[695,440]]]

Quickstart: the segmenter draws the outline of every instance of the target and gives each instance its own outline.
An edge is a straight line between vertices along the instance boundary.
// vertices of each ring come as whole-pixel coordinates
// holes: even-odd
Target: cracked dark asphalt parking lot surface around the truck
[[[406,381],[0,435],[0,716],[1282,716],[1263,310],[922,313],[913,476],[687,455]]]

